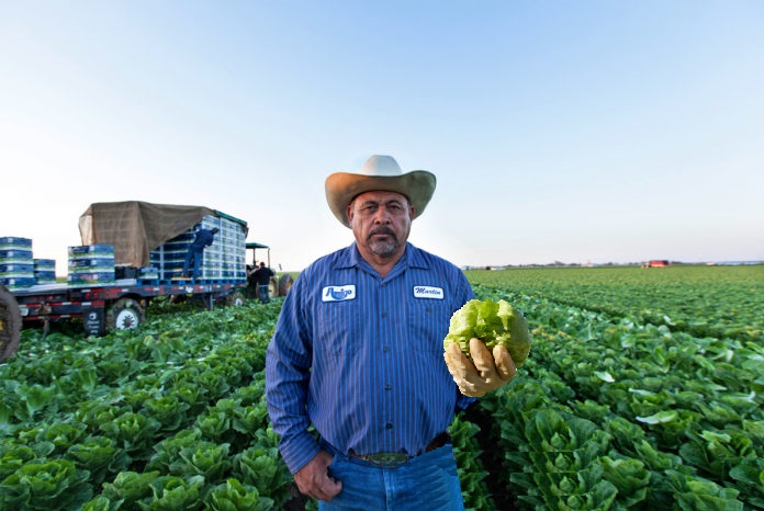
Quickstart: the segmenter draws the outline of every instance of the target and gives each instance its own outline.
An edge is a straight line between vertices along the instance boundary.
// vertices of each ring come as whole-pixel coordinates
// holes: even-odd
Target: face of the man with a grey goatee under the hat
[[[414,206],[395,192],[366,192],[347,209],[350,228],[361,251],[389,258],[402,253],[414,217]]]

